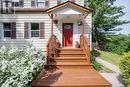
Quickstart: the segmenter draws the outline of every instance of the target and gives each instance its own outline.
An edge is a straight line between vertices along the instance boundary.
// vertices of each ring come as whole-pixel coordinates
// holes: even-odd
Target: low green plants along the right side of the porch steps
[[[102,65],[95,61],[94,51],[91,52],[91,63],[96,70],[102,69]]]

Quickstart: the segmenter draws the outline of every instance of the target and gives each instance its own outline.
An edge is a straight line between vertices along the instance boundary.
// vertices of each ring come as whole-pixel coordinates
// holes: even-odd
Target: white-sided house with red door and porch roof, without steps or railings
[[[84,8],[84,0],[65,1],[67,0],[1,0],[0,46],[23,48],[32,43],[45,51],[52,32],[60,41],[61,47],[75,47],[83,32],[91,45],[90,8]],[[61,3],[65,3],[62,8],[49,10]],[[82,19],[85,23],[84,31]]]

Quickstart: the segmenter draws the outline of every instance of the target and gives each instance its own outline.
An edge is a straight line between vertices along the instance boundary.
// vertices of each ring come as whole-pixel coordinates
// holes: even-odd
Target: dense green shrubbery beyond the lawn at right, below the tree
[[[130,35],[111,35],[106,37],[105,48],[109,52],[122,54],[130,50]]]

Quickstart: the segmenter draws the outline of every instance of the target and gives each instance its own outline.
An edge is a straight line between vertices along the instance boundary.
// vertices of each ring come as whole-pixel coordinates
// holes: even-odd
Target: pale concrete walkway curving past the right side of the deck
[[[101,63],[103,66],[111,69],[114,72],[114,73],[100,73],[104,78],[106,78],[112,84],[112,87],[126,87],[120,75],[120,70],[116,65],[111,64],[101,59],[100,57],[97,57],[96,61]]]

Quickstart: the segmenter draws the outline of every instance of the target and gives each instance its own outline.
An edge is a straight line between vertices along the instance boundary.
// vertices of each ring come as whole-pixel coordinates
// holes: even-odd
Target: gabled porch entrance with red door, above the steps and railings
[[[80,43],[80,36],[84,34],[91,44],[91,20],[87,23],[91,10],[72,2],[65,2],[47,10],[51,18],[51,35],[54,35],[54,27],[57,28],[55,35],[61,47],[75,47],[75,43]],[[91,47],[91,46],[90,46]]]

